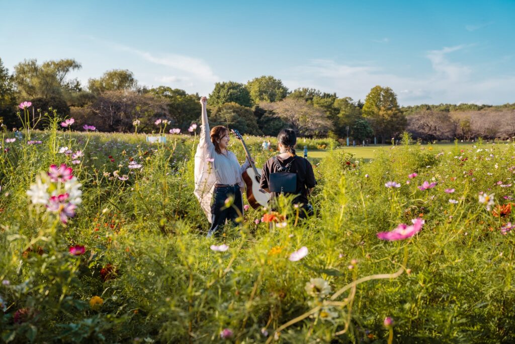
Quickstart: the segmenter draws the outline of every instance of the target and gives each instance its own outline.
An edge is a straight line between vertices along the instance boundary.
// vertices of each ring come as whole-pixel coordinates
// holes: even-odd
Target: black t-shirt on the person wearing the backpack
[[[277,156],[281,166],[286,166],[291,162],[290,172],[297,173],[297,190],[295,193],[298,194],[297,198],[293,201],[294,203],[307,204],[307,190],[314,188],[317,185],[315,180],[315,173],[313,172],[313,166],[310,161],[300,156],[289,156],[286,159],[282,159],[279,155]],[[279,166],[274,162],[273,157],[265,162],[263,172],[261,173],[260,187],[262,189],[268,189],[268,183],[270,181],[270,173],[278,172]],[[272,198],[277,197],[279,193],[272,192]]]

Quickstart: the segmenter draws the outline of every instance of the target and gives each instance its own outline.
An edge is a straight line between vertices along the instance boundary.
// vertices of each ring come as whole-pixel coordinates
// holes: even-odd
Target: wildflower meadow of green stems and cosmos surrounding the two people
[[[314,216],[283,198],[208,239],[197,124],[157,120],[155,142],[53,113],[32,130],[30,106],[0,136],[4,342],[515,341],[514,142],[404,134],[364,161],[308,139],[329,152]],[[258,166],[274,154],[246,141]]]

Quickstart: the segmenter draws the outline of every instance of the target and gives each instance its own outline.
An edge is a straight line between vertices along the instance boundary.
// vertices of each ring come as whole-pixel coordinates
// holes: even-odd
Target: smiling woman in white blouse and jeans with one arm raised
[[[242,173],[250,163],[246,160],[240,166],[236,155],[227,150],[230,140],[228,128],[217,125],[209,129],[207,103],[207,98],[201,97],[202,126],[195,154],[194,193],[211,222],[209,238],[222,232],[226,220],[236,223],[236,218],[243,214],[242,192],[245,183]],[[207,137],[208,133],[210,138]],[[233,204],[226,206],[226,200],[231,197]]]

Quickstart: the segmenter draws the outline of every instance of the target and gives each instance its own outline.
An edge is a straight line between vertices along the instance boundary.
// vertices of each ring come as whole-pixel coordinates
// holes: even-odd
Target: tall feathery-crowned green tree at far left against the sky
[[[77,79],[66,78],[80,68],[80,63],[74,59],[47,61],[41,65],[36,59],[18,63],[14,67],[14,84],[19,100],[63,97],[63,92],[81,90]]]

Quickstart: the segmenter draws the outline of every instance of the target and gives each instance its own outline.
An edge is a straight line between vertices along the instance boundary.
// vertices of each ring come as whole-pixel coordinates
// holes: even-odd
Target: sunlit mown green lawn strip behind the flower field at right
[[[503,143],[505,143],[505,142],[499,142],[497,144],[503,144]],[[458,146],[461,149],[466,149],[466,148],[472,149],[474,144],[477,144],[477,143],[460,143]],[[491,145],[491,144],[492,143],[486,143],[486,142],[483,143],[483,145]],[[337,148],[337,149],[354,154],[354,156],[356,158],[370,160],[370,159],[373,159],[378,152],[384,151],[384,150],[389,150],[391,148],[392,148],[391,145],[379,145],[378,144],[378,145],[370,145],[370,146],[365,146],[365,147],[349,146],[349,147],[343,147],[343,148]],[[435,152],[435,154],[439,153],[439,152],[444,152],[444,153],[451,152],[453,148],[454,148],[454,143],[437,143],[437,144],[420,145],[420,149],[432,151],[432,152]],[[302,151],[300,153],[302,154]],[[328,150],[310,150],[307,152],[307,157],[310,159],[311,158],[320,159],[320,158],[324,158],[328,154],[329,154]]]

